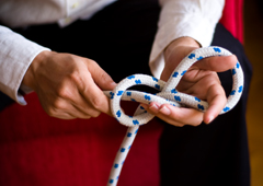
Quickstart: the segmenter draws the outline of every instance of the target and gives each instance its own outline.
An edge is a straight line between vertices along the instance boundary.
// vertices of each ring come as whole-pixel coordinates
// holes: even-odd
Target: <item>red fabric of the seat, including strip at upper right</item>
[[[242,42],[242,0],[227,0],[220,22]],[[25,98],[27,106],[13,104],[0,113],[0,185],[105,186],[126,127],[106,115],[89,120],[52,118],[36,94]],[[129,104],[125,111],[132,109]],[[119,186],[159,185],[161,129],[156,120],[140,127]]]

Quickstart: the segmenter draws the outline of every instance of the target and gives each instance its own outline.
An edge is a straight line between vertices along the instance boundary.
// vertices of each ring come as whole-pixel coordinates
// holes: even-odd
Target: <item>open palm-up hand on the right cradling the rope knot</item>
[[[165,66],[161,79],[167,81],[181,60],[197,48],[199,48],[199,44],[191,37],[181,37],[173,40],[164,50]],[[202,121],[209,124],[227,103],[217,72],[233,68],[237,61],[235,55],[204,58],[195,62],[181,79],[176,90],[207,101],[209,107],[205,113],[194,108],[174,107],[169,104],[160,105],[156,102],[141,105],[147,112],[178,127],[184,125],[198,126]]]

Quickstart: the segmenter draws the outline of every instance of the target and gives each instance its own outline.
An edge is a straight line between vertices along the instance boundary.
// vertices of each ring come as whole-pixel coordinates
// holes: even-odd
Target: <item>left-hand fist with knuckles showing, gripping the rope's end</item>
[[[91,59],[42,51],[22,83],[36,92],[49,116],[73,119],[111,115],[110,101],[102,90],[113,90],[116,83]]]

